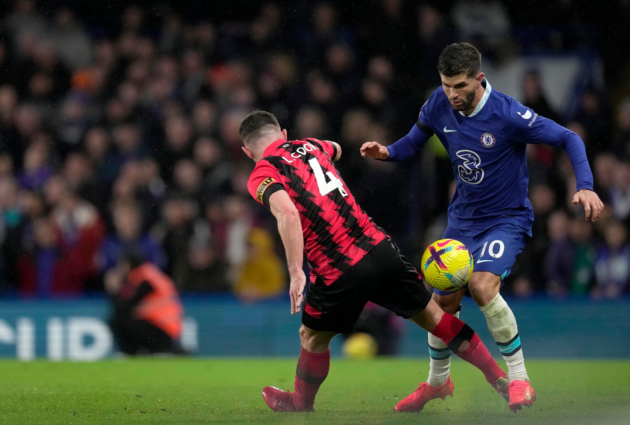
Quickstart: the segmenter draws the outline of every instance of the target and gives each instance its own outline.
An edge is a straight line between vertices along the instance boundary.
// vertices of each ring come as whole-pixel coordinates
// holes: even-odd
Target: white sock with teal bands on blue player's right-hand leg
[[[501,297],[501,294],[496,294],[491,302],[479,308],[486,316],[488,329],[495,338],[496,345],[499,346],[505,364],[508,366],[510,382],[514,380],[529,382],[516,318],[507,302]]]

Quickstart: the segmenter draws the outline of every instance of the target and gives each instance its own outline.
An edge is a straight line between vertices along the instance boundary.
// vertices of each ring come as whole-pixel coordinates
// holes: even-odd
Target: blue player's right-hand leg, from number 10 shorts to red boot
[[[468,288],[486,316],[488,329],[508,367],[510,409],[517,410],[531,405],[536,394],[529,385],[516,318],[499,290],[516,256],[529,240],[529,234],[515,225],[503,225],[488,232],[484,239],[484,246],[488,249],[487,252],[482,251],[476,261]]]

